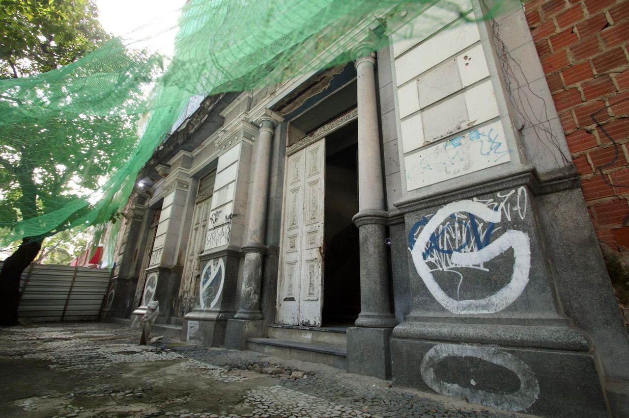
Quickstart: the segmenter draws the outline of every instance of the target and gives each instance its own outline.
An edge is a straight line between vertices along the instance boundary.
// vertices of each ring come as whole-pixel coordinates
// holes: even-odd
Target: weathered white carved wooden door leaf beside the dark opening
[[[321,326],[325,138],[286,163],[277,323]]]

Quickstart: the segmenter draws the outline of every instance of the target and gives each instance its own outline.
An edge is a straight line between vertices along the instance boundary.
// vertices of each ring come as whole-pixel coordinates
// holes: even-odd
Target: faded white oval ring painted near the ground
[[[435,375],[437,365],[447,357],[473,357],[515,373],[520,379],[520,389],[513,394],[494,394],[481,389],[468,389],[455,383],[443,382]],[[537,378],[526,363],[505,351],[491,347],[438,344],[428,350],[421,361],[421,378],[432,390],[442,395],[459,397],[494,408],[525,410],[535,403],[540,394]],[[472,380],[472,385],[477,382]]]

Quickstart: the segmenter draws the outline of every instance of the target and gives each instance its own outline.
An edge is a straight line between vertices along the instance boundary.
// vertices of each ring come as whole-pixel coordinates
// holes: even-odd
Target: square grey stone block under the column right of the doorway
[[[347,329],[347,371],[381,379],[391,377],[391,328]]]

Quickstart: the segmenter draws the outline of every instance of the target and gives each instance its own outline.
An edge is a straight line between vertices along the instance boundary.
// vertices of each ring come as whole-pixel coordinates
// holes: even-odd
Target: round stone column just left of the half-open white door
[[[245,253],[243,280],[240,289],[240,303],[237,319],[261,319],[260,287],[262,284],[263,257],[267,250],[264,245],[267,200],[269,192],[270,153],[273,129],[276,119],[265,115],[259,120],[260,130],[255,152],[255,172],[252,182],[252,201],[249,212],[247,244],[242,246]]]

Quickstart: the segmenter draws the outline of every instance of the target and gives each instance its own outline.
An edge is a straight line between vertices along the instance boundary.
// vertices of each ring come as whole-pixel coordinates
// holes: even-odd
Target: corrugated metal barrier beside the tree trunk
[[[20,282],[19,318],[94,321],[98,319],[110,274],[108,269],[31,264]]]

